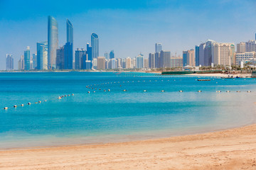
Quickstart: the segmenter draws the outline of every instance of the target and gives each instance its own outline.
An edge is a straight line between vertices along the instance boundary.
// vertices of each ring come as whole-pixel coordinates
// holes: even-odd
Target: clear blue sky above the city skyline
[[[154,44],[171,55],[211,39],[217,42],[254,40],[255,0],[0,0],[0,69],[6,54],[14,56],[14,69],[27,46],[47,40],[47,19],[58,21],[59,46],[66,42],[66,19],[73,23],[74,49],[86,48],[90,35],[100,38],[100,56],[114,50],[115,57],[148,57]]]

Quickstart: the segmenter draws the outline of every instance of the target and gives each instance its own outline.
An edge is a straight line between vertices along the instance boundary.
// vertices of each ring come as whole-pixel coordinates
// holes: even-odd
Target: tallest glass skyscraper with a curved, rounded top
[[[48,16],[48,68],[56,68],[56,50],[58,49],[58,23]]]

